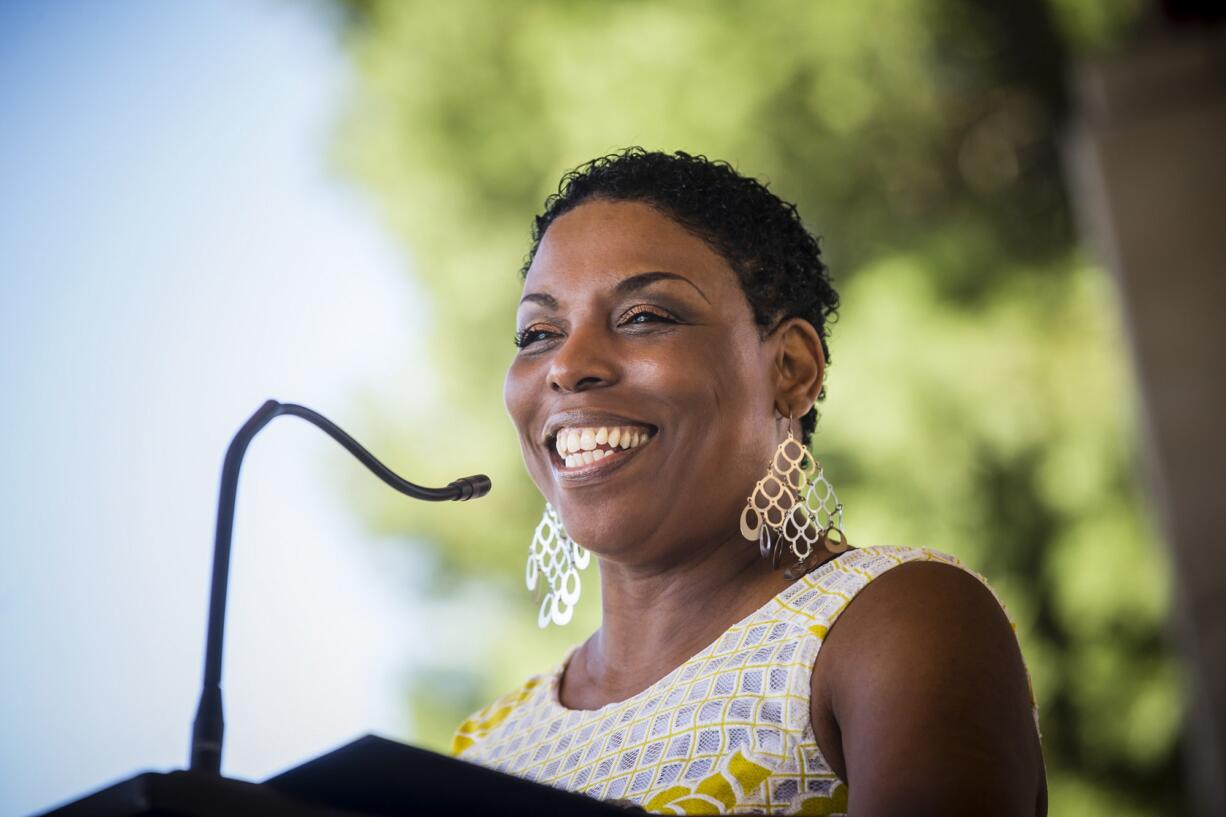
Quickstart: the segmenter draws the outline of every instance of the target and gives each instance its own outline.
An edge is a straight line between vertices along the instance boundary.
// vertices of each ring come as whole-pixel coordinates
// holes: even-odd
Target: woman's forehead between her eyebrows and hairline
[[[683,275],[712,301],[741,296],[741,283],[722,255],[640,201],[590,201],[560,216],[537,248],[525,290],[554,294],[604,290],[639,272]]]

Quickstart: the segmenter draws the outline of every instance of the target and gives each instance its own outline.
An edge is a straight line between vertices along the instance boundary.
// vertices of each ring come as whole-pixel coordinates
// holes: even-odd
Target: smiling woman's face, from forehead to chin
[[[739,536],[779,442],[775,343],[718,253],[649,205],[580,205],[542,239],[516,329],[506,407],[575,541],[647,566]]]

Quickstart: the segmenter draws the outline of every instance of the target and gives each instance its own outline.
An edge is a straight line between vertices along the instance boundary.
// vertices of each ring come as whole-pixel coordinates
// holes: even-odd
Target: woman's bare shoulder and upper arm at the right
[[[851,813],[1046,813],[1021,651],[966,570],[908,562],[870,581],[818,654],[810,707]]]

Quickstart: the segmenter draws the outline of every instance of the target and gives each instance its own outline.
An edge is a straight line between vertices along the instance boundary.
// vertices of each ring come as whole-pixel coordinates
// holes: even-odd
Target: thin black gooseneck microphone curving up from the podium
[[[200,705],[196,708],[196,720],[191,727],[190,768],[199,772],[221,773],[222,734],[222,637],[226,629],[226,588],[229,577],[230,539],[234,534],[234,498],[238,494],[238,471],[243,465],[246,447],[261,428],[278,415],[302,417],[321,428],[329,437],[345,447],[349,454],[358,458],[375,476],[414,499],[427,502],[465,501],[484,497],[489,493],[489,477],[461,477],[445,488],[423,488],[392,472],[386,465],[374,458],[358,440],[345,433],[327,417],[305,406],[292,402],[268,400],[259,411],[251,415],[230,440],[226,450],[226,462],[222,465],[221,497],[217,502],[217,537],[213,542],[213,583],[208,596],[208,640],[205,648],[205,683],[200,693]]]

